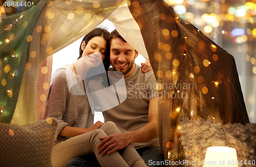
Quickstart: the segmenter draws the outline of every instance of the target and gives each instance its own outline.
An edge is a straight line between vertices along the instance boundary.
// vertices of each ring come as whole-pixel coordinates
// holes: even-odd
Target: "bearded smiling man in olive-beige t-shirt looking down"
[[[141,72],[141,67],[134,63],[138,52],[116,30],[109,36],[109,46],[113,66],[110,70],[123,74],[127,98],[120,105],[103,112],[105,121],[114,122],[122,133],[99,138],[102,140],[98,146],[99,153],[102,156],[112,154],[132,143],[148,166],[157,166],[152,164],[164,161],[164,158],[159,153],[158,101],[153,71]],[[115,76],[109,75],[109,78],[115,80]],[[66,166],[95,166],[87,162],[76,158]]]

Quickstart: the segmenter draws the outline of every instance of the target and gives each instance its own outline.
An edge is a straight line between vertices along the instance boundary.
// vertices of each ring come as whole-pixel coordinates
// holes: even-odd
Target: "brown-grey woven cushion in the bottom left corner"
[[[20,126],[0,123],[0,166],[52,166],[55,118]]]

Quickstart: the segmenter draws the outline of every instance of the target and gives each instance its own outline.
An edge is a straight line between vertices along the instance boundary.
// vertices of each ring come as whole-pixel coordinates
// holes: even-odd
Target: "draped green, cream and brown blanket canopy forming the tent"
[[[2,123],[44,119],[52,54],[105,18],[152,64],[165,159],[184,159],[177,132],[182,117],[249,122],[233,57],[163,1],[41,0],[0,24]]]

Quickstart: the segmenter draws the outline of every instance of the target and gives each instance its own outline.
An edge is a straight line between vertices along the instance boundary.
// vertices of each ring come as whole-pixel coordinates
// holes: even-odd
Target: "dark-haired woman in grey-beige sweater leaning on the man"
[[[112,122],[97,122],[93,125],[93,114],[85,89],[87,78],[102,73],[110,66],[106,51],[109,32],[96,28],[84,36],[78,60],[54,73],[47,101],[47,117],[58,120],[55,145],[52,150],[53,166],[65,166],[72,158],[95,154],[101,166],[146,166],[130,144],[122,155],[98,154],[99,137],[121,133]],[[96,72],[96,73],[95,73]],[[130,155],[130,156],[129,156]]]

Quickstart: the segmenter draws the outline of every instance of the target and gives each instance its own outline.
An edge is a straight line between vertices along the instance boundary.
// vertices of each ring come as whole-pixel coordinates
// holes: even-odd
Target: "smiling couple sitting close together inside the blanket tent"
[[[103,61],[101,62],[97,56]],[[153,85],[156,80],[152,72],[142,73],[141,68],[134,64],[137,56],[138,52],[125,42],[116,30],[109,34],[108,31],[96,28],[83,38],[78,60],[56,70],[47,101],[47,117],[56,117],[58,120],[52,150],[53,166],[65,166],[69,160],[67,166],[90,166],[78,157],[88,158],[92,154],[95,154],[101,166],[143,167],[147,166],[148,160],[163,161],[157,138],[158,103],[154,97],[157,90],[154,87],[138,90],[132,85]],[[84,70],[83,74],[78,74],[76,67],[79,67],[81,58],[85,63]],[[150,93],[149,98],[144,96],[135,99],[131,97],[133,94],[127,94],[127,99],[121,105],[103,112],[105,122],[108,122],[103,124],[98,121],[93,125],[93,114],[84,89],[94,88],[93,83],[100,77],[90,77],[81,81],[79,75],[95,72],[95,67],[100,63],[108,70],[110,62],[113,66],[110,70],[123,74],[127,90]],[[112,77],[109,75],[109,78]],[[72,87],[72,91],[82,90],[83,94],[70,92],[68,84],[74,80],[77,84]]]

